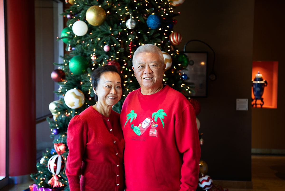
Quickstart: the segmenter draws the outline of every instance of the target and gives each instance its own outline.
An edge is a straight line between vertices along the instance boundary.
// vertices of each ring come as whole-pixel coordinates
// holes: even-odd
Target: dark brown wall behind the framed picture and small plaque
[[[203,133],[201,159],[208,164],[208,175],[215,180],[251,181],[251,108],[236,111],[236,98],[251,100],[254,1],[185,1],[177,6],[174,31],[183,36],[178,46],[191,39],[209,44],[216,53],[216,81],[208,81],[201,103],[199,133]],[[198,42],[188,51],[208,51],[208,72],[213,54]]]

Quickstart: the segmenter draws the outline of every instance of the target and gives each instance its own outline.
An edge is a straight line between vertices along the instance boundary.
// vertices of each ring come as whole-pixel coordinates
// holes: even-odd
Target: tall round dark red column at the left
[[[34,0],[6,1],[9,176],[36,171]]]

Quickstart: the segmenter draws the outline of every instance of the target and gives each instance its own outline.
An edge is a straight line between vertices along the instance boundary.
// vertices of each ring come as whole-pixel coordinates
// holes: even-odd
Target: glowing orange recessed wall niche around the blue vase
[[[262,108],[277,108],[277,85],[278,85],[278,61],[253,61],[252,63],[252,80],[255,75],[260,72],[263,80],[267,81],[267,86],[264,87],[262,95],[263,106]],[[255,98],[253,88],[251,87],[251,97]],[[251,102],[255,103],[255,100]],[[257,108],[261,108],[261,100],[257,100]],[[255,108],[255,105],[253,105]]]

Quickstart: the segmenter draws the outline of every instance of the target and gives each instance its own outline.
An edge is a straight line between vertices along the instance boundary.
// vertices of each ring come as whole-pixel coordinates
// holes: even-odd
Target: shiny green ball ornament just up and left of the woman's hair
[[[80,75],[86,72],[88,61],[84,56],[74,56],[70,59],[69,69],[73,74]]]

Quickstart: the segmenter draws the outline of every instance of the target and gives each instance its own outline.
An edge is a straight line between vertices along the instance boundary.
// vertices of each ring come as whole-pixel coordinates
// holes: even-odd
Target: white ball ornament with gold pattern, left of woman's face
[[[64,95],[65,104],[71,109],[80,108],[85,102],[84,93],[78,89],[70,89]]]

